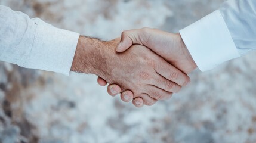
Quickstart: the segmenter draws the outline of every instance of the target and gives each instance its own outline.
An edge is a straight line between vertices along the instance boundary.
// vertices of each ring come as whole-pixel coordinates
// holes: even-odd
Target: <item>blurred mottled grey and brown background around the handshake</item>
[[[110,40],[123,30],[168,32],[223,0],[0,0],[67,30]],[[1,28],[1,27],[0,27]],[[4,35],[1,35],[4,36]],[[0,63],[0,142],[256,142],[256,53],[190,74],[171,100],[135,108],[94,75],[69,77]]]

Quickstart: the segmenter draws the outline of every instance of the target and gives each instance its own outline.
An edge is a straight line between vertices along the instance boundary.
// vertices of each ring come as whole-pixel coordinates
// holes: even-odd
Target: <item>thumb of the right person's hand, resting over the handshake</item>
[[[122,32],[121,41],[116,48],[116,52],[124,52],[125,50],[129,49],[133,44],[141,43],[137,40],[137,37],[138,34],[136,30],[128,30]]]

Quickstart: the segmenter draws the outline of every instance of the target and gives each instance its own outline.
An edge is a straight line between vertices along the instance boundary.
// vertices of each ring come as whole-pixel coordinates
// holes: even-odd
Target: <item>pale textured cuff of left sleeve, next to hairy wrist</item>
[[[79,33],[58,29],[34,19],[35,39],[25,67],[69,75],[78,44]]]

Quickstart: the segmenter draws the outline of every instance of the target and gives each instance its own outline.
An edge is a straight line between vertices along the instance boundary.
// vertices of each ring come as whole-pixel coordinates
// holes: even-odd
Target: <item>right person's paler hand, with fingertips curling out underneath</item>
[[[168,63],[172,64],[172,66],[183,71],[183,73],[189,74],[197,67],[179,33],[173,34],[149,28],[127,30],[122,33],[121,42],[116,51],[124,52],[129,48],[133,48],[132,45],[134,44],[146,46],[168,61]],[[100,77],[98,78],[98,83],[102,86],[107,84],[107,82]],[[119,86],[118,84],[110,84],[108,89],[109,91],[110,89],[116,89],[116,91],[118,91]],[[128,97],[124,98],[124,93]],[[119,94],[119,92],[115,94],[109,92],[109,94],[116,95]],[[131,91],[121,93],[121,99],[125,102],[130,101],[132,98],[134,98],[132,103],[135,106],[141,107],[143,105],[144,102],[142,102],[141,98],[134,97]],[[136,102],[140,102],[140,104],[135,104]]]

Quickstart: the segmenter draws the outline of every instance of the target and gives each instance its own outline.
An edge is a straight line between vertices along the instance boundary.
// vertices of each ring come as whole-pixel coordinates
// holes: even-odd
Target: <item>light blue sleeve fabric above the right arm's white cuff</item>
[[[230,0],[219,10],[239,54],[256,49],[256,1]]]

